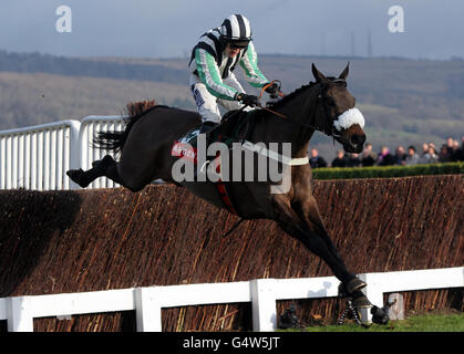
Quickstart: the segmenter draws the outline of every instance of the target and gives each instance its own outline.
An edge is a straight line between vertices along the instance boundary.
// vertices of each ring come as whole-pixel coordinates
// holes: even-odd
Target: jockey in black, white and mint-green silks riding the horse
[[[245,105],[259,104],[255,95],[245,93],[233,71],[237,64],[245,72],[247,82],[254,87],[262,87],[269,80],[257,65],[258,59],[251,42],[251,28],[246,17],[233,14],[219,28],[212,29],[199,39],[192,51],[188,67],[190,88],[202,115],[199,133],[206,133],[220,123],[218,103],[228,111]],[[266,88],[271,97],[277,97],[277,84]],[[251,110],[246,107],[246,111]]]

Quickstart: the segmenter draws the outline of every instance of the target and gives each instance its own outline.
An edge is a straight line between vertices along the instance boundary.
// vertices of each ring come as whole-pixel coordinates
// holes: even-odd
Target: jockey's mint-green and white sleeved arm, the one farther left
[[[195,63],[198,76],[205,84],[208,92],[223,100],[234,101],[238,94],[237,90],[226,85],[219,74],[214,56],[204,49],[196,49]]]

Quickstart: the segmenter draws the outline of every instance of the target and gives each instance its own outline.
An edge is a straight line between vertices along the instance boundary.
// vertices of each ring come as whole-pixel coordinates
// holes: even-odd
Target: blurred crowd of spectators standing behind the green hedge
[[[391,153],[388,146],[382,146],[379,153],[372,149],[372,144],[367,143],[361,154],[349,154],[338,150],[331,164],[319,155],[318,149],[310,149],[309,163],[312,168],[319,167],[364,167],[364,166],[393,166],[393,165],[416,165],[434,163],[464,162],[464,136],[460,143],[452,137],[446,138],[440,149],[433,143],[424,143],[422,150],[417,152],[413,145],[400,145]]]

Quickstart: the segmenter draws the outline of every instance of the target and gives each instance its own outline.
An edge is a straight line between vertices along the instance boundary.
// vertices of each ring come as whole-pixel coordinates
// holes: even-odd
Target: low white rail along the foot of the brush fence
[[[464,267],[364,273],[364,292],[378,306],[383,293],[464,287]],[[254,331],[277,329],[277,300],[318,299],[338,295],[334,277],[257,279],[230,283],[147,287],[0,299],[0,320],[10,332],[32,332],[33,319],[135,310],[138,332],[162,331],[164,308],[251,302]],[[362,315],[370,322],[370,316]]]

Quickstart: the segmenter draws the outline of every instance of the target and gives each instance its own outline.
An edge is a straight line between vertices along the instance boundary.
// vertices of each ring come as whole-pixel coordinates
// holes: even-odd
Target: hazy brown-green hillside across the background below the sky
[[[368,140],[380,149],[464,135],[464,61],[260,55],[285,92],[312,80],[310,65],[338,75],[350,60],[349,90],[367,118]],[[132,100],[194,110],[187,59],[71,59],[0,51],[0,129],[120,114]],[[239,72],[239,70],[237,70]],[[241,73],[238,74],[241,77]],[[247,90],[254,92],[254,88]],[[255,91],[256,92],[256,91]],[[339,145],[312,140],[331,160]]]

